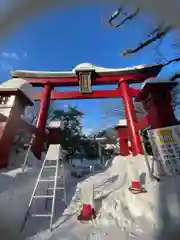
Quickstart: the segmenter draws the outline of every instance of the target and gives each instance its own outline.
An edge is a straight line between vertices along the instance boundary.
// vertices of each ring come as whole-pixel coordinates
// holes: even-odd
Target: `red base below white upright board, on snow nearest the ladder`
[[[96,212],[91,204],[83,204],[81,214],[78,216],[79,221],[90,221],[96,218]]]

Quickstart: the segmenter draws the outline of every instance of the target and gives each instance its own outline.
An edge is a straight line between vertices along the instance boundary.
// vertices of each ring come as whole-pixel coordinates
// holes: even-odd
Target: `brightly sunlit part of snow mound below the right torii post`
[[[114,159],[115,167],[111,174],[119,171],[118,181],[121,187],[103,201],[100,221],[104,224],[116,223],[120,227],[128,227],[138,217],[144,217],[152,225],[156,221],[155,204],[157,203],[157,182],[151,182],[143,156]],[[119,167],[119,168],[118,168]],[[148,193],[134,195],[128,188],[133,180],[133,170],[138,169],[142,184]],[[118,170],[117,170],[118,169]],[[115,170],[115,171],[114,171]],[[120,180],[121,179],[121,180]]]

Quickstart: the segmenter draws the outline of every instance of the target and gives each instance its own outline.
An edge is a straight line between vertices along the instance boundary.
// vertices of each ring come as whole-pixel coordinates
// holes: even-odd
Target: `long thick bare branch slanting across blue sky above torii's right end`
[[[164,30],[161,30],[160,32],[157,32],[157,28],[154,30],[154,32],[156,32],[156,35],[151,37],[150,39],[142,42],[137,48],[134,49],[128,49],[122,52],[123,56],[127,56],[128,54],[133,54],[133,53],[137,53],[138,51],[142,50],[144,47],[147,47],[148,45],[152,44],[153,42],[162,39],[167,33],[169,33],[171,31],[171,27],[167,26],[164,28]]]

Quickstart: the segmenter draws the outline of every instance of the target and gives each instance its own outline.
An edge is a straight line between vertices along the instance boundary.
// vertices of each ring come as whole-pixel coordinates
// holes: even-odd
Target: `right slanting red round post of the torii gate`
[[[143,154],[141,138],[138,131],[136,131],[137,118],[134,111],[134,104],[130,94],[129,85],[126,81],[120,82],[120,91],[124,102],[124,110],[128,122],[128,128],[130,130],[132,153],[134,156]]]

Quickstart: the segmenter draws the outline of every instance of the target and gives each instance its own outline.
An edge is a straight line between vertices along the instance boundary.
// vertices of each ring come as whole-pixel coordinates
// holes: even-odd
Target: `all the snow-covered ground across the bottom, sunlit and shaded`
[[[65,165],[67,208],[60,194],[56,201],[54,230],[49,232],[49,219],[29,218],[20,234],[29,199],[34,188],[40,164],[21,172],[23,156],[12,157],[11,167],[0,171],[0,239],[2,240],[169,240],[179,239],[180,231],[180,177],[151,180],[144,156],[115,157],[110,166],[84,179],[70,175]],[[33,160],[35,161],[35,159]],[[32,161],[32,162],[33,162]],[[19,165],[19,166],[18,166]],[[134,195],[128,188],[138,170],[147,193]],[[82,184],[94,184],[95,223],[82,224],[77,215]],[[43,186],[40,191],[45,191]],[[45,213],[44,201],[36,200],[33,212]],[[50,211],[50,202],[48,210]]]

